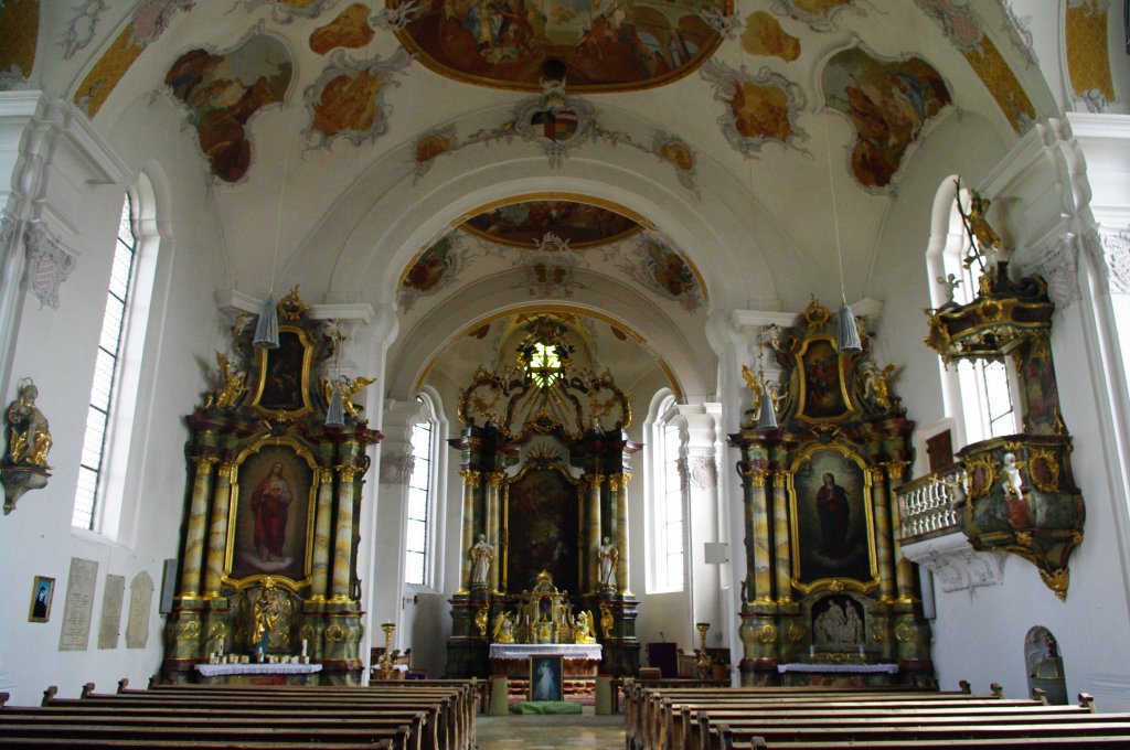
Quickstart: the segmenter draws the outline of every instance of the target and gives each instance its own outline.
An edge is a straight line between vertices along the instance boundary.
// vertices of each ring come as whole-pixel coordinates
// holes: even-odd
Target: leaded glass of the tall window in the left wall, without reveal
[[[98,507],[103,482],[103,459],[106,448],[106,431],[111,410],[114,408],[114,385],[119,376],[122,348],[122,332],[125,328],[130,289],[133,281],[133,261],[137,236],[132,226],[132,200],[129,194],[122,206],[118,225],[118,241],[114,243],[114,261],[106,290],[106,308],[102,316],[102,332],[98,335],[98,354],[90,384],[90,404],[87,409],[86,435],[82,438],[82,456],[79,461],[78,489],[75,492],[75,509],[71,525],[93,529],[95,509]]]

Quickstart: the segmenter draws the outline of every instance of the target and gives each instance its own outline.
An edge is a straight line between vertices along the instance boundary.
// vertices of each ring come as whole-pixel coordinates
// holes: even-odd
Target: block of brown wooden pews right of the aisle
[[[625,686],[628,750],[1130,748],[1130,714],[962,691]]]

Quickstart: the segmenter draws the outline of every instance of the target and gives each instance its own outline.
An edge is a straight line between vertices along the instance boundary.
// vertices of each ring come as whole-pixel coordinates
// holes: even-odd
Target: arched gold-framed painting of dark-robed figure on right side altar
[[[802,450],[790,476],[794,585],[803,593],[834,581],[878,585],[871,478],[845,446]]]

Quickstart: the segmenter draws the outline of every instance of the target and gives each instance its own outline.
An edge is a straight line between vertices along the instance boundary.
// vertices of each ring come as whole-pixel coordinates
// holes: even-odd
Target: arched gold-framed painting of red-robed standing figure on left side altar
[[[236,471],[227,578],[237,587],[268,575],[303,585],[318,490],[313,456],[286,438],[264,438],[241,456]]]

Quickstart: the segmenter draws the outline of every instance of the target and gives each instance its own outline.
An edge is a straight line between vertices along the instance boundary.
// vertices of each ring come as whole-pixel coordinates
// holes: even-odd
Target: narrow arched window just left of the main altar
[[[412,460],[405,504],[405,583],[426,586],[432,584],[429,558],[436,549],[433,520],[436,514],[441,424],[429,394],[418,394],[416,402],[419,409],[410,425]]]

